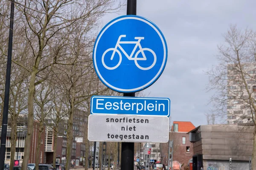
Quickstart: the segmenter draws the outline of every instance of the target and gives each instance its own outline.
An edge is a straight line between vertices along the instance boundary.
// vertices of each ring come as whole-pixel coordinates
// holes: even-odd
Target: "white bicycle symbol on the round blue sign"
[[[117,42],[116,42],[116,46],[115,48],[108,48],[103,54],[102,54],[102,64],[105,68],[107,68],[108,70],[114,70],[116,68],[118,68],[118,66],[121,64],[122,62],[122,54],[121,52],[117,49],[117,47],[120,48],[120,50],[123,52],[123,54],[125,54],[125,56],[129,59],[129,60],[134,60],[135,62],[135,65],[140,68],[141,70],[149,70],[151,69],[152,67],[154,67],[155,63],[157,62],[157,56],[155,54],[155,52],[153,50],[151,50],[150,48],[142,48],[141,45],[140,45],[140,41],[141,40],[144,40],[144,37],[134,37],[135,40],[138,40],[138,41],[120,41],[122,37],[126,37],[126,35],[120,35]],[[134,46],[134,49],[132,50],[131,52],[131,55],[129,56],[125,50],[122,48],[122,46],[120,44],[136,44]],[[136,48],[139,47],[140,50],[137,51],[137,53],[135,54],[134,58],[132,58],[132,56],[134,55],[134,52],[136,50]],[[115,53],[117,52],[117,54],[119,54],[119,62],[117,63],[117,65],[113,66],[113,67],[108,67],[105,62],[104,62],[104,57],[105,55],[107,54],[108,51],[113,51],[112,53],[112,56],[111,56],[111,60],[113,60],[113,57],[115,55]],[[153,54],[154,56],[154,62],[152,63],[152,65],[150,65],[149,67],[142,67],[138,64],[138,60],[147,60],[146,56],[145,56],[145,53],[144,51],[149,51]],[[142,54],[143,58],[137,58],[139,54]]]

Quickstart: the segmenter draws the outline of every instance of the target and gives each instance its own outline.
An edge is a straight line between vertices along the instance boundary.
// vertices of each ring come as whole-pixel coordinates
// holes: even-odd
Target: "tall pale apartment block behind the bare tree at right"
[[[227,65],[226,90],[227,124],[252,122],[255,112],[250,108],[249,96],[256,99],[256,63],[243,64],[241,69],[238,65]]]

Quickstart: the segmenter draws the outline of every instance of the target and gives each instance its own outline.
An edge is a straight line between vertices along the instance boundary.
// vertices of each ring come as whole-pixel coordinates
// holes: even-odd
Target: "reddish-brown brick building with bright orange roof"
[[[189,141],[188,132],[194,129],[195,126],[191,122],[174,121],[169,139],[173,140],[173,161],[179,161],[181,164],[187,165],[189,159],[193,156],[192,143]],[[161,163],[168,164],[168,143],[160,144]],[[171,158],[171,152],[170,157]]]

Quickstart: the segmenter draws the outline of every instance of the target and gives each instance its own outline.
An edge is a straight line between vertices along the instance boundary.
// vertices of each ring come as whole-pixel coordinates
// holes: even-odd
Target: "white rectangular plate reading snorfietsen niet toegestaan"
[[[169,140],[166,116],[90,115],[89,141],[155,142]]]

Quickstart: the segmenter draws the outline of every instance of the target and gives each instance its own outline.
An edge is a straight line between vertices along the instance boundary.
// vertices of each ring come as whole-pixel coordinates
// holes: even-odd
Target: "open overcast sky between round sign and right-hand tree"
[[[171,99],[172,121],[207,124],[213,92],[205,72],[217,64],[217,45],[230,24],[256,28],[255,0],[137,0],[137,15],[155,23],[166,38],[168,60],[161,77],[144,92]],[[108,14],[102,26],[115,17]]]

